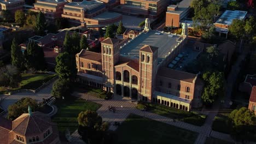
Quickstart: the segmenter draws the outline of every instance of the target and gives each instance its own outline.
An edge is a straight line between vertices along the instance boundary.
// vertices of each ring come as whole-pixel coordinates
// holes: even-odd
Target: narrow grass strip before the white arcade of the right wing
[[[206,116],[199,113],[188,112],[184,110],[174,109],[165,105],[149,103],[148,111],[161,116],[179,119],[180,121],[202,126],[205,123]]]

